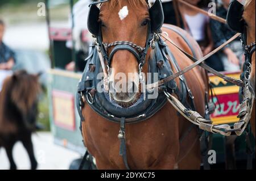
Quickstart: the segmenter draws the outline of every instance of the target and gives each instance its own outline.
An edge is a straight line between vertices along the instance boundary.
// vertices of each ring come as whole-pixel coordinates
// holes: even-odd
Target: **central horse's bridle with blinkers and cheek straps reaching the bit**
[[[158,34],[160,33],[160,28],[163,25],[163,9],[162,4],[157,0],[152,7],[149,8],[151,21],[148,21],[147,24],[147,39],[144,47],[141,47],[131,41],[114,41],[113,43],[106,43],[102,40],[102,31],[101,23],[98,26],[94,26],[93,23],[96,23],[95,17],[99,16],[100,8],[97,8],[96,5],[108,2],[98,1],[90,4],[90,12],[88,16],[88,29],[96,37],[96,47],[98,49],[98,54],[101,61],[101,66],[104,71],[104,87],[105,90],[109,90],[109,77],[110,77],[110,68],[113,60],[113,56],[119,50],[127,50],[134,55],[138,61],[138,73],[139,81],[143,81],[144,76],[142,76],[142,68],[146,62],[146,55],[150,48],[155,48],[155,41],[158,41]],[[155,22],[156,16],[158,16],[158,21]],[[94,18],[94,19],[93,19]],[[108,49],[112,48],[112,51],[108,54]]]

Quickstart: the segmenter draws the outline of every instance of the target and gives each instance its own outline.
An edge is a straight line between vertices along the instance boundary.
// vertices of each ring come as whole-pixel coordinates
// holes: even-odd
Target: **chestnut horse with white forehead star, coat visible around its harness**
[[[127,6],[129,15],[123,20],[119,19],[118,12]],[[104,42],[127,40],[144,47],[147,35],[147,26],[142,26],[149,19],[146,0],[110,0],[102,3],[99,21],[102,26]],[[185,31],[177,27],[176,31],[169,26],[162,30],[167,32],[171,39],[181,48],[192,54],[191,48],[180,36],[182,33],[192,45],[197,58],[202,56],[199,45]],[[167,43],[168,44],[168,43]],[[180,52],[174,45],[168,44],[181,69],[193,62]],[[108,51],[110,52],[110,48]],[[125,58],[124,58],[125,57]],[[146,65],[143,72],[147,73],[147,64],[150,61],[150,52],[146,56]],[[114,54],[112,68],[115,73],[138,74],[138,61],[132,53],[119,50]],[[134,76],[135,83],[138,77]],[[115,81],[111,78],[110,81]],[[204,115],[205,91],[208,90],[207,75],[200,68],[195,68],[185,74],[188,86],[195,96],[196,110]],[[122,80],[125,81],[125,80]],[[179,84],[179,79],[176,79]],[[139,85],[135,85],[139,87]],[[178,85],[179,86],[179,85]],[[113,95],[115,102],[133,103],[137,94]],[[119,156],[120,142],[117,134],[119,124],[112,123],[94,112],[88,104],[82,109],[85,121],[82,122],[82,135],[84,144],[90,154],[96,158],[98,169],[126,169],[122,157]],[[192,128],[190,132],[188,129]],[[184,137],[183,141],[180,138]],[[191,123],[180,116],[171,104],[166,104],[154,116],[137,124],[126,125],[127,160],[131,169],[200,169],[200,142],[198,130],[191,127]]]

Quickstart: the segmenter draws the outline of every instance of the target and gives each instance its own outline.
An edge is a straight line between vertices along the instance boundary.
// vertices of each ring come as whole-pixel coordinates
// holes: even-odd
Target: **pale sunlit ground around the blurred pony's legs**
[[[39,163],[38,169],[68,169],[73,159],[80,158],[80,154],[55,145],[51,133],[36,133],[32,136],[32,141]],[[30,169],[27,152],[20,142],[14,146],[13,153],[18,169]],[[0,149],[0,169],[9,169],[9,160],[4,149]]]

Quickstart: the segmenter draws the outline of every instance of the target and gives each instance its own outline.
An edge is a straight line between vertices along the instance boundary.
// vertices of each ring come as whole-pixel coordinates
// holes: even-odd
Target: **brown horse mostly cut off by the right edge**
[[[243,19],[246,22],[247,29],[247,45],[255,42],[255,1],[247,0],[244,7]],[[251,74],[250,74],[250,91],[255,97],[255,52],[251,59]],[[255,137],[255,102],[251,115],[251,128]]]

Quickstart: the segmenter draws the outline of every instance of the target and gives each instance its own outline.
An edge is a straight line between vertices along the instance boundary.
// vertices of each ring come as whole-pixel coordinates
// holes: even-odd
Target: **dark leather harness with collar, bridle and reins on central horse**
[[[218,50],[225,47],[231,41],[236,39],[240,34],[238,33],[232,39],[228,40],[226,43],[218,47],[213,52],[209,53],[207,56],[197,60],[195,57],[184,52],[175,43],[168,38],[168,36],[163,35],[160,31],[160,27],[163,25],[163,9],[162,4],[159,0],[156,0],[155,4],[150,8],[150,17],[152,23],[148,24],[148,33],[145,47],[141,47],[133,42],[129,41],[115,41],[113,43],[105,43],[102,41],[101,34],[101,24],[97,23],[97,19],[100,13],[100,9],[96,6],[98,3],[108,2],[108,0],[94,2],[90,7],[89,17],[88,17],[88,29],[97,38],[97,40],[92,45],[92,52],[86,58],[86,66],[82,79],[78,85],[77,94],[77,110],[81,117],[81,121],[85,121],[82,117],[82,107],[84,107],[83,100],[86,100],[90,108],[92,108],[98,115],[104,117],[105,119],[112,121],[114,123],[120,124],[120,129],[118,133],[118,138],[121,141],[119,154],[123,158],[123,162],[127,169],[129,165],[127,163],[126,155],[126,142],[125,142],[125,125],[139,123],[145,121],[156,112],[158,112],[167,102],[170,102],[175,109],[180,112],[187,120],[191,121],[194,125],[197,125],[200,129],[212,133],[220,133],[225,136],[229,136],[232,132],[236,132],[237,135],[241,135],[245,130],[249,120],[253,105],[253,95],[249,91],[249,74],[251,71],[251,57],[255,52],[255,42],[250,45],[245,45],[246,43],[246,27],[244,26],[244,33],[242,35],[243,47],[245,49],[246,63],[244,66],[245,76],[243,79],[233,79],[226,77],[226,75],[218,73],[217,71],[209,68],[209,66],[203,63],[209,56],[216,53]],[[236,2],[236,1],[235,1]],[[233,11],[230,11],[233,12]],[[154,22],[155,19],[158,21]],[[160,19],[160,20],[159,20]],[[188,66],[184,70],[181,70],[177,65],[174,56],[172,56],[171,51],[168,49],[164,41],[161,39],[163,37],[171,44],[175,45],[181,52],[183,52],[188,58],[190,58],[195,63]],[[108,56],[108,48],[114,47],[112,52]],[[139,98],[136,104],[128,108],[123,108],[118,104],[111,102],[111,97],[109,95],[109,68],[112,63],[112,58],[118,50],[128,50],[132,53],[138,61],[139,64],[139,77],[142,73],[142,67],[145,64],[146,54],[148,49],[152,48],[151,60],[148,61],[148,70],[150,73],[157,73],[158,80],[150,79],[147,83],[145,89],[145,95],[150,95],[152,89],[159,87],[159,95],[156,99],[143,99],[143,96]],[[173,73],[169,61],[172,62],[177,73]],[[105,69],[105,65],[108,71]],[[209,120],[209,105],[207,104],[207,115],[205,118],[195,111],[195,104],[193,103],[192,92],[188,89],[187,82],[183,74],[195,66],[201,66],[204,69],[210,71],[211,73],[225,79],[225,81],[231,82],[237,86],[243,87],[243,101],[241,103],[241,110],[238,115],[240,121],[230,127],[230,125],[212,125],[212,121]],[[97,75],[102,73],[103,76],[98,78]],[[177,89],[175,78],[180,78],[181,90]],[[144,78],[143,78],[144,79]],[[143,81],[140,78],[140,81]],[[102,83],[101,83],[102,82]],[[101,86],[98,86],[101,83]],[[178,95],[179,99],[176,99],[172,93]],[[190,103],[187,102],[187,94],[190,98]],[[185,105],[185,106],[184,106]],[[189,108],[188,108],[189,107]]]

